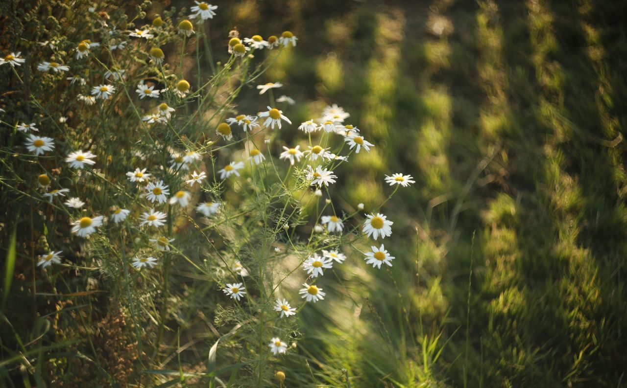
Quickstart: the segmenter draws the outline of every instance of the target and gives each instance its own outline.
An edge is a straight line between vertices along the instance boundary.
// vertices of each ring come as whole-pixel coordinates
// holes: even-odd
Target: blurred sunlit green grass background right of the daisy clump
[[[219,6],[244,36],[298,36],[262,81],[293,121],[338,103],[374,139],[338,173],[347,207],[417,178],[383,208],[394,267],[325,282],[288,386],[627,384],[627,2]]]

